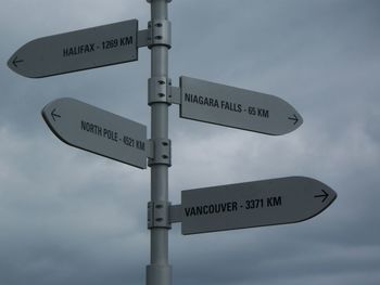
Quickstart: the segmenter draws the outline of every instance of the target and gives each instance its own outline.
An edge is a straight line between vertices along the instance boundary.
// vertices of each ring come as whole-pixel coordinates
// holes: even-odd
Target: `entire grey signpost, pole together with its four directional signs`
[[[182,118],[280,135],[297,129],[301,115],[280,98],[245,89],[180,77],[172,87],[168,50],[172,25],[167,3],[147,0],[151,21],[138,30],[138,21],[92,27],[39,38],[20,48],[9,60],[15,73],[47,77],[138,60],[138,48],[151,50],[148,102],[151,139],[147,127],[75,99],[54,100],[42,109],[45,121],[63,142],[141,169],[151,168],[148,228],[151,258],[147,285],[172,284],[168,264],[170,223],[181,222],[182,234],[293,223],[325,210],[337,197],[326,184],[305,177],[182,191],[181,205],[168,200],[168,106],[180,105]]]

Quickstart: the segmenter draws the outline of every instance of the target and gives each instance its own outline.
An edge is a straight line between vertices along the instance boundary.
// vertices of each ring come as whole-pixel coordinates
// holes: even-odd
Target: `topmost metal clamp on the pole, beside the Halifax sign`
[[[172,23],[168,20],[152,20],[148,22],[148,48],[165,46],[172,48]]]

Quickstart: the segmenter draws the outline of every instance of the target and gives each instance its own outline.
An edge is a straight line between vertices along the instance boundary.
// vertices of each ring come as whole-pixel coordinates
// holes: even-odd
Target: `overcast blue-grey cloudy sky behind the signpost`
[[[139,20],[144,0],[0,0],[0,285],[144,284],[150,173],[71,147],[40,115],[71,96],[144,124],[139,61],[29,79],[7,67],[45,36]],[[302,223],[169,233],[173,284],[380,282],[380,2],[173,0],[169,74],[277,95],[303,116],[280,137],[179,118],[170,107],[169,199],[180,191],[289,176],[338,193]]]

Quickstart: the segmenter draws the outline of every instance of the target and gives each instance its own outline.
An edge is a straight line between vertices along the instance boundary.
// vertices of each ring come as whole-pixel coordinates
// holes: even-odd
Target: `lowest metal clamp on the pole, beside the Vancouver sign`
[[[148,229],[172,229],[169,219],[170,203],[165,200],[148,203]]]

